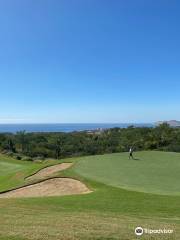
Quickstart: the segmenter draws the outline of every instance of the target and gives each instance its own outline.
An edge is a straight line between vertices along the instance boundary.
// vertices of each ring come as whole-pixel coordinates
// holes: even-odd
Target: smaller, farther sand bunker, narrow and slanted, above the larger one
[[[71,167],[73,163],[61,163],[58,165],[50,166],[43,168],[42,170],[38,171],[37,173],[33,174],[32,176],[29,176],[26,178],[26,180],[37,180],[37,179],[43,179],[46,177],[51,176],[52,174],[55,174],[59,171],[65,170],[69,167]]]

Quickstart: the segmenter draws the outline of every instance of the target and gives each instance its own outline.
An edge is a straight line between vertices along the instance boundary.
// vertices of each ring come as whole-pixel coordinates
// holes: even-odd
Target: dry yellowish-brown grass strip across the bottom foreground
[[[0,235],[19,236],[27,240],[135,240],[138,225],[174,229],[173,235],[144,236],[141,239],[180,239],[179,225],[158,220],[109,216],[95,213],[50,212],[42,209],[18,210],[10,207],[0,219]]]

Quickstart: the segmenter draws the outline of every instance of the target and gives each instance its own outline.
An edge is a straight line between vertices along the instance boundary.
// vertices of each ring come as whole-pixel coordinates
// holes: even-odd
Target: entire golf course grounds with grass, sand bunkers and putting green
[[[0,192],[1,240],[180,239],[179,153],[42,162],[0,155]],[[137,237],[137,226],[173,233]]]

